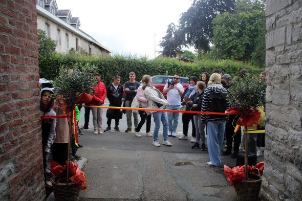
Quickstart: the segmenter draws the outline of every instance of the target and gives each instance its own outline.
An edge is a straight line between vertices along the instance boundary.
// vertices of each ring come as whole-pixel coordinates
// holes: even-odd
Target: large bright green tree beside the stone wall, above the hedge
[[[233,13],[218,15],[213,25],[217,58],[265,65],[265,10],[261,1],[239,0]]]

